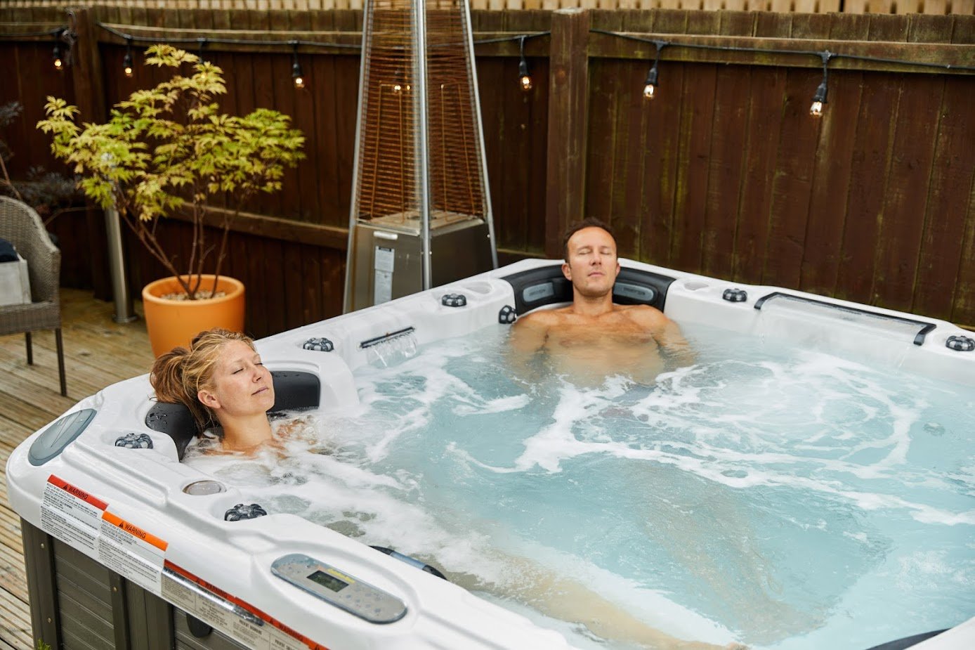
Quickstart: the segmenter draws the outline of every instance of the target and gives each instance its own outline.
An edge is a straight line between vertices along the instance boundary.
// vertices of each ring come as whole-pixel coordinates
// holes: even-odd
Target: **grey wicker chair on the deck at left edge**
[[[33,208],[6,196],[0,196],[0,238],[14,244],[20,257],[27,261],[32,303],[0,306],[0,335],[24,333],[27,339],[27,363],[34,363],[30,333],[54,330],[58,344],[58,373],[61,394],[67,395],[64,382],[64,346],[60,334],[60,251],[51,243],[44,223]]]

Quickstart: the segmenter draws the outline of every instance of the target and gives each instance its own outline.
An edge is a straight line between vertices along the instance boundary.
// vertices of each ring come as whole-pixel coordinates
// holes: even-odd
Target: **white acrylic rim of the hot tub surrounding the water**
[[[707,323],[744,333],[761,330],[763,336],[788,337],[800,345],[804,340],[822,344],[823,325],[818,319],[832,318],[829,309],[824,314],[813,313],[799,328],[762,329],[762,311],[756,305],[763,297],[784,293],[834,305],[840,315],[845,314],[839,320],[846,324],[840,322],[839,326],[846,328],[846,336],[830,340],[839,351],[873,353],[881,362],[896,363],[909,371],[975,384],[975,352],[946,346],[951,337],[967,334],[950,323],[774,287],[732,284],[650,264],[622,263],[636,272],[673,278],[661,298],[665,299],[665,312],[679,323]],[[558,263],[512,264],[263,339],[257,342],[258,350],[274,371],[317,375],[326,412],[346,408],[358,403],[352,373],[369,363],[374,353],[363,342],[412,328],[411,335],[424,345],[483,327],[507,327],[499,322],[504,319],[503,310],[524,301],[516,301],[515,289],[503,278],[541,272],[545,267],[558,277]],[[743,290],[746,300],[726,300],[728,289]],[[456,301],[444,300],[457,294],[464,296],[466,305],[450,306]],[[862,309],[895,322],[922,321],[918,330],[924,329],[926,334],[918,345],[914,335],[904,335],[903,328],[877,333],[863,328],[856,317],[846,317],[856,316]],[[868,314],[867,319],[871,318],[875,316]],[[328,339],[333,350],[305,349],[303,345],[310,339]],[[47,427],[14,451],[7,464],[8,495],[26,523],[25,531],[30,531],[29,538],[25,534],[25,547],[45,540],[55,547],[69,547],[68,555],[74,553],[78,560],[108,567],[111,580],[144,590],[147,598],[155,598],[164,607],[165,602],[173,603],[178,610],[236,639],[240,647],[569,647],[557,632],[542,630],[518,614],[300,517],[271,512],[254,519],[225,521],[225,511],[242,503],[244,497],[234,488],[195,496],[183,491],[185,486],[211,477],[179,463],[173,439],[145,426],[146,413],[154,404],[151,395],[147,376],[108,386],[65,414],[95,411],[89,425],[53,458],[41,465],[32,465],[28,458],[31,446]],[[149,436],[152,448],[116,447],[116,439],[127,433]],[[392,594],[403,602],[406,614],[392,623],[370,623],[295,588],[271,571],[275,560],[289,553],[316,558],[337,569],[339,575]],[[35,556],[37,549],[28,549],[28,562]],[[45,573],[43,567],[30,566],[28,573],[38,573],[35,568]],[[38,580],[43,583],[43,576],[31,579],[34,610],[42,600],[35,597]],[[76,581],[48,582],[58,583],[56,589],[73,589]],[[47,600],[51,607],[59,598]],[[50,626],[44,628],[52,618],[50,613],[34,611],[33,618],[36,637],[58,633]],[[122,636],[117,630],[114,633],[117,645]],[[975,619],[914,647],[975,647]]]

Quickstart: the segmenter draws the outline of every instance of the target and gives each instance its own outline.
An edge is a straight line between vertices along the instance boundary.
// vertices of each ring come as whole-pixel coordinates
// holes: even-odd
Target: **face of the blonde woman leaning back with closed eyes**
[[[260,355],[243,341],[231,341],[220,350],[210,386],[197,393],[217,419],[265,413],[274,405],[271,372]]]

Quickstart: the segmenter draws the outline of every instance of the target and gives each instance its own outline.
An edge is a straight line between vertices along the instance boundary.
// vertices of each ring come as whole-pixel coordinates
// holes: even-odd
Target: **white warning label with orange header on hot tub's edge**
[[[165,541],[121,517],[101,514],[97,550],[98,561],[119,575],[156,595],[162,593]]]

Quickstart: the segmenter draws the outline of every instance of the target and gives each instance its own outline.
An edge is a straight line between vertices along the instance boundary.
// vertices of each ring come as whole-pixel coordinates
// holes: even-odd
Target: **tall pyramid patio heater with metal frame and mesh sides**
[[[467,0],[370,0],[345,311],[497,266]]]

